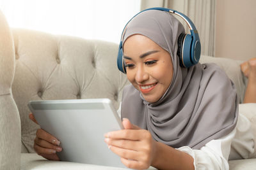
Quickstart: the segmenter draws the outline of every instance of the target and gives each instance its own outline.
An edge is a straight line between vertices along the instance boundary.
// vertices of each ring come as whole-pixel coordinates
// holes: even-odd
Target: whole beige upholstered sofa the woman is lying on
[[[40,127],[28,117],[31,100],[109,98],[117,109],[129,83],[116,67],[118,45],[10,29],[1,11],[0,37],[0,169],[119,169],[45,160],[33,150]],[[222,67],[243,103],[246,78],[239,68],[241,60],[202,55],[200,62]],[[255,104],[239,107],[256,125]],[[229,160],[229,164],[230,169],[256,169],[256,159]]]

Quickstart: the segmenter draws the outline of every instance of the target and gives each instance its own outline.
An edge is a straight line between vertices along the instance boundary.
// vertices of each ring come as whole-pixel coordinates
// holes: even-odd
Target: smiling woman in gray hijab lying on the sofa
[[[132,169],[228,169],[238,118],[236,89],[215,64],[180,67],[182,32],[172,14],[159,10],[140,13],[124,32],[131,81],[121,104],[125,129],[108,132],[105,141]],[[58,160],[59,141],[38,131],[36,152]]]

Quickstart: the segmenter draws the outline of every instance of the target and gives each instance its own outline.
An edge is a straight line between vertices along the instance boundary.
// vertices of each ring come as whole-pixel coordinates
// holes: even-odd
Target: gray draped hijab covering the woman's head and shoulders
[[[179,66],[177,39],[184,27],[166,11],[149,10],[134,17],[125,39],[142,34],[170,53],[173,78],[156,103],[148,103],[132,85],[124,88],[122,118],[147,129],[161,143],[199,149],[230,133],[237,122],[236,89],[216,64]],[[124,45],[123,45],[124,46]]]

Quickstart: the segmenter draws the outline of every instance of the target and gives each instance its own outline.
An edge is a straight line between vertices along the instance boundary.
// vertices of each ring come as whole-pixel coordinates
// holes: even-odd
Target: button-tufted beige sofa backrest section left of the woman
[[[127,78],[116,67],[116,44],[22,29],[12,32],[12,90],[20,113],[22,152],[34,152],[39,128],[28,118],[31,100],[107,97],[118,108]]]

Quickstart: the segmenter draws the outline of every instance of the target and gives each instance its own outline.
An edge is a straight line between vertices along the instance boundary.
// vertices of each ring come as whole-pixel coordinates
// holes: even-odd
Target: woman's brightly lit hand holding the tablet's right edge
[[[131,169],[147,169],[156,155],[156,141],[149,131],[132,125],[123,119],[124,129],[104,135],[109,149],[121,157],[122,163]]]

